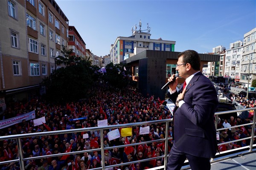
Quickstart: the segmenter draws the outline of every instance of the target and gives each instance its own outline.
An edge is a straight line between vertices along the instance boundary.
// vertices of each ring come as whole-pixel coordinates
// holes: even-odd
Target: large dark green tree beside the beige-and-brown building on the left
[[[55,70],[41,82],[47,89],[46,98],[51,102],[70,102],[87,97],[94,83],[91,61],[70,56],[72,50],[66,48],[62,48],[62,53],[63,57],[56,57],[56,64],[66,67]]]

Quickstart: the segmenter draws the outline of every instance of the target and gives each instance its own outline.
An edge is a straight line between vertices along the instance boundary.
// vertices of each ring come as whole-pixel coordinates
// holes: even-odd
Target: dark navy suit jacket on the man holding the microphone
[[[174,94],[176,101],[183,85]],[[186,87],[184,102],[174,108],[174,143],[180,152],[213,158],[217,150],[214,113],[218,105],[217,92],[212,82],[201,72],[195,74]]]

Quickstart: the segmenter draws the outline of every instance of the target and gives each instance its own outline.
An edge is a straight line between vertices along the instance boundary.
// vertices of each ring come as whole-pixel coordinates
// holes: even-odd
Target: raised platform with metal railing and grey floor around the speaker
[[[217,127],[218,123],[218,116],[224,115],[224,114],[229,114],[229,113],[241,113],[243,111],[250,111],[253,110],[253,122],[251,123],[246,123],[243,125],[236,125],[232,127],[241,127],[241,126],[247,126],[250,125],[252,126],[252,134],[255,132],[255,122],[256,122],[256,108],[247,108],[247,109],[239,109],[239,110],[233,110],[233,111],[223,111],[223,112],[217,112],[215,113],[215,126]],[[6,163],[12,163],[12,162],[19,162],[20,163],[20,169],[24,170],[25,169],[25,164],[24,162],[32,159],[41,159],[41,158],[49,158],[49,157],[55,157],[55,156],[64,156],[64,155],[70,155],[70,154],[79,154],[79,153],[84,153],[84,152],[93,152],[93,151],[98,151],[101,152],[102,155],[102,162],[105,162],[105,150],[112,150],[114,148],[121,148],[121,147],[134,147],[137,145],[143,145],[143,144],[150,144],[152,142],[163,142],[164,146],[163,148],[163,155],[162,156],[157,156],[157,157],[151,157],[147,159],[142,159],[139,161],[131,161],[131,162],[125,162],[125,163],[119,163],[119,164],[112,164],[105,166],[105,164],[102,164],[102,167],[99,168],[94,168],[93,170],[105,170],[105,168],[111,168],[111,167],[116,167],[116,166],[129,166],[131,164],[136,164],[136,163],[141,163],[145,161],[151,161],[151,160],[156,160],[156,159],[162,159],[162,165],[159,167],[153,167],[150,168],[149,170],[159,170],[160,168],[163,168],[166,170],[166,165],[167,165],[167,160],[168,160],[168,144],[171,142],[172,137],[168,136],[168,133],[165,134],[164,138],[162,139],[156,139],[152,141],[146,141],[146,142],[140,142],[140,143],[131,143],[128,144],[125,142],[124,145],[119,145],[119,146],[113,146],[113,147],[100,147],[103,146],[103,140],[100,140],[99,148],[95,149],[90,149],[90,150],[81,150],[81,151],[74,151],[72,153],[67,152],[67,153],[58,153],[58,154],[50,154],[50,155],[44,155],[44,156],[35,156],[35,157],[28,157],[24,158],[23,157],[23,150],[22,150],[22,139],[26,137],[35,137],[35,136],[48,136],[48,135],[57,135],[57,134],[64,134],[64,133],[76,133],[76,132],[84,132],[84,131],[91,131],[91,130],[99,130],[100,131],[100,138],[104,139],[103,137],[103,132],[106,129],[117,129],[117,128],[125,128],[125,127],[140,127],[141,125],[153,125],[153,124],[165,124],[166,126],[166,132],[168,131],[167,127],[169,127],[169,123],[172,122],[172,119],[163,119],[163,120],[156,120],[156,121],[149,121],[149,122],[136,122],[136,123],[130,123],[130,124],[121,124],[121,125],[109,125],[109,126],[100,126],[100,127],[87,127],[86,129],[84,128],[79,128],[79,129],[70,129],[70,130],[58,130],[58,131],[46,131],[46,132],[39,132],[39,133],[27,133],[27,134],[18,134],[18,135],[10,135],[10,136],[0,136],[0,141],[3,140],[9,140],[9,139],[17,139],[17,151],[19,154],[19,159],[14,159],[14,160],[9,160],[9,161],[1,161],[0,164],[6,164]],[[99,125],[99,124],[98,124]],[[222,131],[225,129],[229,129],[230,127],[226,128],[220,128],[217,129],[217,131]],[[215,155],[215,158],[211,159],[211,169],[212,170],[241,170],[241,169],[247,169],[247,170],[252,170],[256,169],[256,161],[255,161],[255,156],[256,156],[256,144],[254,142],[254,139],[256,136],[250,135],[247,136],[246,138],[243,139],[237,139],[229,142],[224,142],[218,144],[220,145],[228,145],[232,144],[233,142],[239,142],[242,140],[250,140],[250,145],[245,146],[245,147],[239,147],[236,149],[231,149],[231,150],[226,150],[220,153],[217,153]],[[185,161],[182,167],[182,170],[190,169],[188,161]]]

